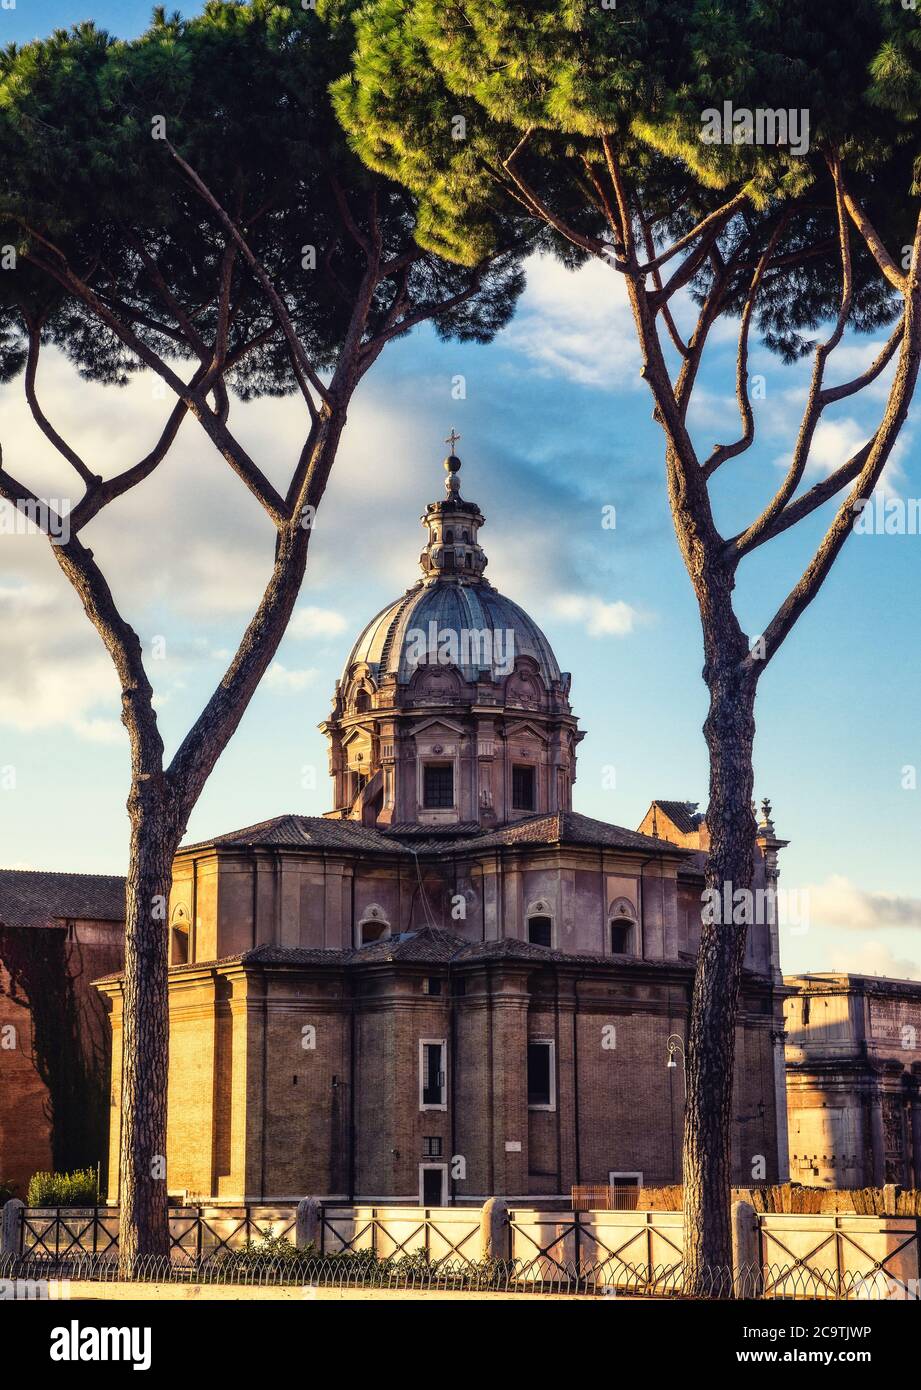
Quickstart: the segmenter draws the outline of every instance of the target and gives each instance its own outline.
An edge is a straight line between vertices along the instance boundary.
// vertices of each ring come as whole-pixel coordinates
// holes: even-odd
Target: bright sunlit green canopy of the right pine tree
[[[421,243],[458,263],[500,245],[508,220],[539,220],[513,167],[575,234],[558,253],[589,254],[608,224],[604,139],[657,246],[743,195],[720,242],[724,261],[745,243],[724,310],[740,311],[777,234],[758,325],[786,357],[839,307],[829,158],[886,246],[913,240],[921,17],[897,0],[320,0],[339,22],[349,11],[339,118],[368,167],[418,197]],[[707,138],[725,103],[756,120],[807,113],[807,147]],[[711,275],[704,260],[690,282],[699,300]],[[853,277],[850,325],[890,321],[897,296],[863,245]]]

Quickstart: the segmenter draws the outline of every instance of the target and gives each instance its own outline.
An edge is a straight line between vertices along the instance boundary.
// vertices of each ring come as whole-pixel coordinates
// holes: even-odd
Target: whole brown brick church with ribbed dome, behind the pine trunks
[[[188,1200],[481,1204],[679,1182],[706,826],[572,809],[571,677],[485,577],[445,461],[420,578],[321,726],[333,809],[185,845],[169,902],[168,1184]],[[756,887],[772,887],[770,806]],[[733,1180],[786,1179],[777,927],[749,929]],[[118,1183],[122,986],[113,1026]]]

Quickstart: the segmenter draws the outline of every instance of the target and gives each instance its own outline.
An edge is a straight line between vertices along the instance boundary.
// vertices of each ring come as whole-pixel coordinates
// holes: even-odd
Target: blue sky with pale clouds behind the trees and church
[[[0,10],[0,39],[22,42],[90,11],[129,35],[149,7],[18,0]],[[847,342],[840,353],[833,379],[853,375],[872,346]],[[738,428],[733,354],[733,339],[718,336],[700,381],[692,427],[704,450]],[[758,443],[721,474],[727,531],[777,486],[802,410],[803,368],[756,352],[752,370],[765,378],[765,399]],[[464,400],[451,395],[458,374]],[[113,466],[144,452],[167,407],[146,378],[107,392],[78,382],[61,361],[49,361],[43,385],[56,424]],[[4,453],[14,473],[61,495],[67,480],[19,398],[19,385],[0,389]],[[833,467],[863,442],[881,404],[875,389],[831,414],[817,467]],[[281,477],[300,438],[297,403],[238,406],[235,424]],[[572,671],[588,730],[576,809],[635,826],[653,796],[706,802],[697,613],[622,291],[603,267],[572,277],[543,261],[493,345],[439,343],[421,329],[393,345],[360,388],[293,634],[218,763],[192,837],[329,808],[317,724],[360,628],[415,580],[418,517],[442,493],[442,441],[451,427],[463,435],[464,495],[486,513],[488,577],[532,613]],[[167,655],[150,671],[169,748],[219,678],[271,556],[271,535],[247,495],[194,428],[183,427],[143,502],[126,499],[92,542],[142,638],[165,638]],[[889,470],[890,493],[920,495],[915,439],[910,423]],[[203,499],[204,532],[190,518]],[[617,507],[614,531],[601,527],[606,505]],[[761,631],[797,577],[822,520],[747,562],[738,598],[750,632]],[[921,537],[852,538],[761,682],[757,795],[772,799],[778,833],[790,840],[783,883],[814,890],[814,924],[782,941],[788,970],[921,974],[921,791],[903,788],[906,764],[921,764],[920,548]],[[15,769],[15,788],[0,792],[0,862],[119,872],[128,755],[108,659],[40,538],[3,538],[0,595],[0,767]],[[610,766],[614,790],[603,785]]]

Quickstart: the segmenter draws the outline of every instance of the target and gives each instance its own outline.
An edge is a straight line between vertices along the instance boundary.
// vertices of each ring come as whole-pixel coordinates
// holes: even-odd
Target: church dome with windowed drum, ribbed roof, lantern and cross
[[[571,809],[570,676],[483,577],[486,518],[461,498],[460,467],[449,455],[445,500],[422,514],[422,578],[371,619],[336,681],[321,724],[332,816],[428,834]]]

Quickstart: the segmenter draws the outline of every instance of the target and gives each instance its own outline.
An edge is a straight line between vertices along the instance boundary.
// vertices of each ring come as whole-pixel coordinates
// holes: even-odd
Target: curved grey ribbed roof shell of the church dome
[[[417,670],[413,649],[418,639],[411,638],[410,634],[424,632],[428,635],[432,631],[429,624],[435,624],[433,631],[454,632],[461,656],[472,655],[471,634],[488,632],[490,651],[497,662],[501,662],[503,655],[507,653],[508,638],[506,634],[511,632],[513,660],[529,656],[536,662],[547,685],[560,680],[560,667],[553,648],[522,607],[499,594],[485,580],[463,584],[443,578],[418,584],[403,598],[389,603],[368,623],[351,648],[343,680],[353,666],[367,662],[376,681],[385,676],[396,676],[400,684],[407,684]],[[493,634],[500,634],[497,642]],[[464,637],[467,637],[467,642],[464,642]],[[457,670],[464,680],[475,681],[481,667],[461,659],[457,663]],[[508,667],[506,666],[500,674],[508,674]]]

